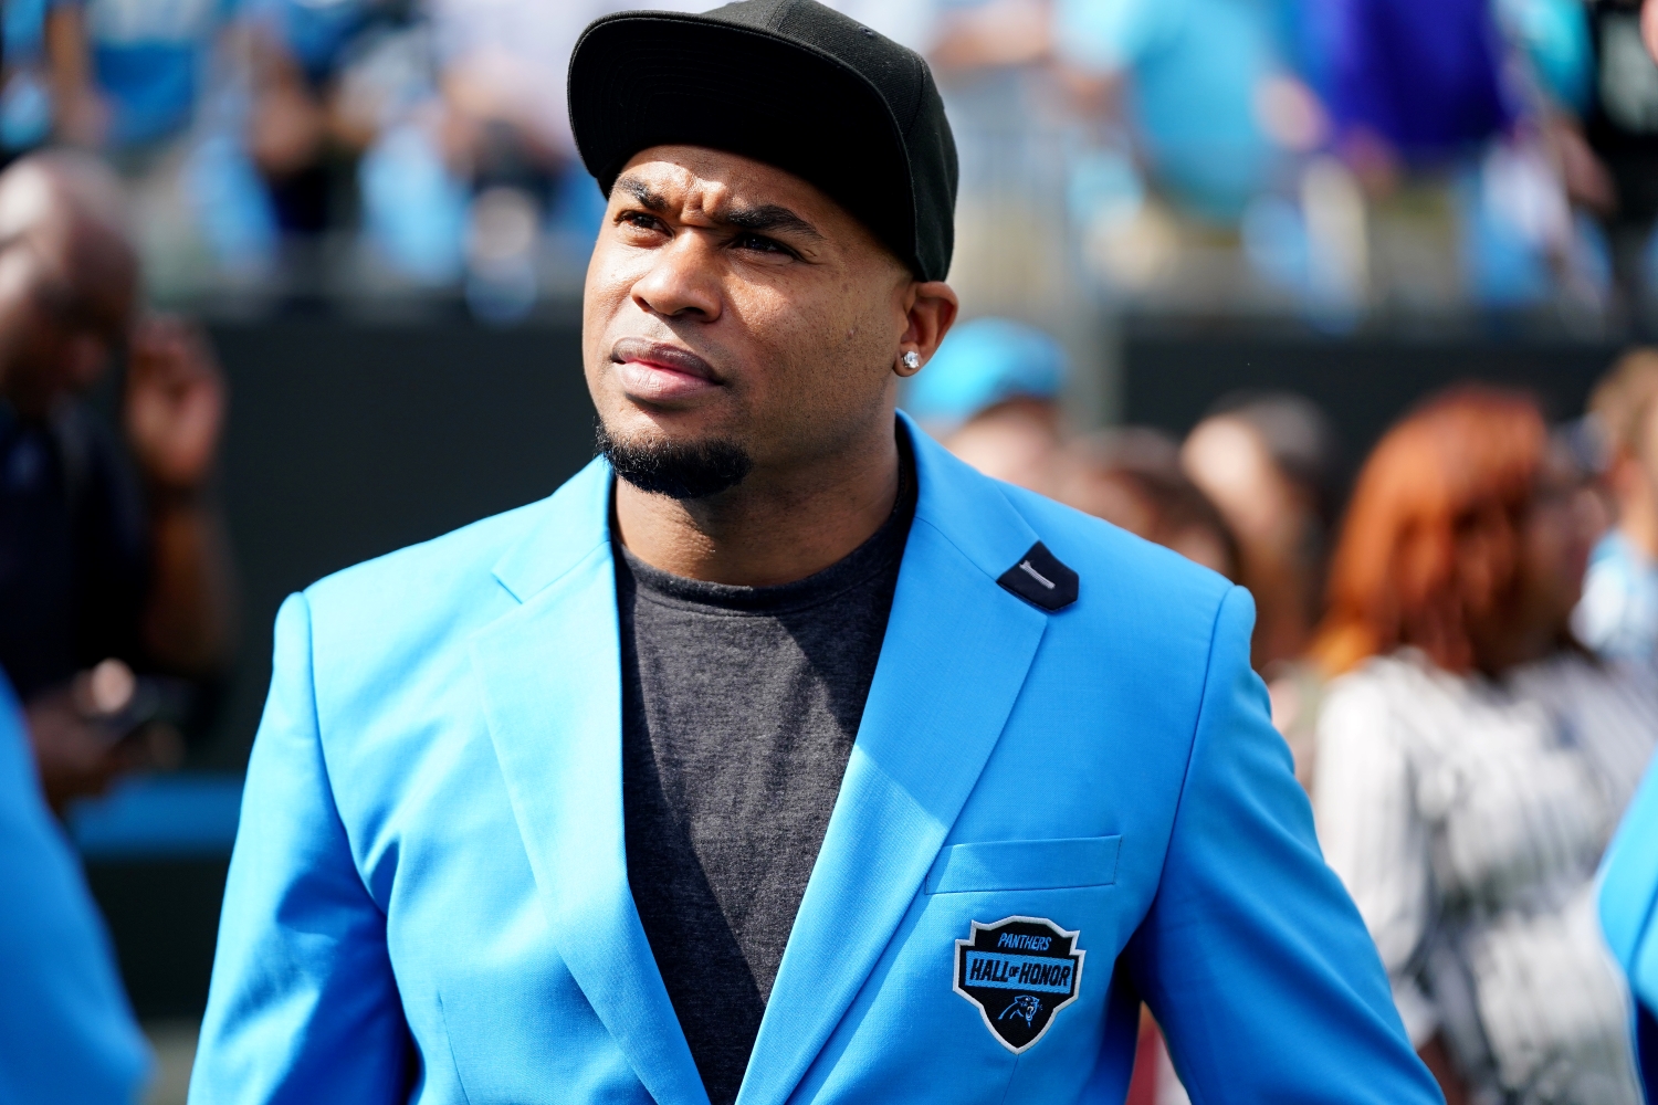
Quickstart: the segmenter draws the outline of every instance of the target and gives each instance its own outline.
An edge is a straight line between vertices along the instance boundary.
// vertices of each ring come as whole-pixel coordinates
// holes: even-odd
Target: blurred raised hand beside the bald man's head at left
[[[206,340],[179,318],[148,318],[133,333],[126,434],[144,477],[162,490],[197,490],[212,472],[225,389]]]

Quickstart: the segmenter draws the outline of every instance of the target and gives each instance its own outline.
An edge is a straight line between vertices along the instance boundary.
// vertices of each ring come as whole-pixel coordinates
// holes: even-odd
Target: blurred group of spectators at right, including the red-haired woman
[[[1184,441],[1068,434],[1064,374],[1053,338],[980,318],[907,409],[1250,590],[1325,858],[1447,1102],[1641,1100],[1595,871],[1658,742],[1658,350],[1563,424],[1520,391],[1429,396],[1350,489],[1305,398],[1224,396]],[[1184,1100],[1151,1024],[1142,1059],[1131,1103]]]

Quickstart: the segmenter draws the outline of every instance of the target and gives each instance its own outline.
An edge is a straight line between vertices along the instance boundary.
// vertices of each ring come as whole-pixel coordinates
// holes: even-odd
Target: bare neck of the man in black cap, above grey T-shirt
[[[897,497],[899,449],[889,429],[807,466],[756,466],[741,484],[706,499],[652,495],[617,480],[615,517],[622,543],[653,568],[774,586],[822,572],[862,545]]]

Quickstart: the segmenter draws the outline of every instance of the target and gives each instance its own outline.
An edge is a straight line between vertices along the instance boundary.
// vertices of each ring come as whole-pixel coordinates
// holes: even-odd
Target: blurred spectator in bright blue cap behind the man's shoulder
[[[1064,350],[1043,331],[1006,318],[975,318],[952,330],[910,379],[904,406],[980,472],[1050,492],[1064,374]]]

